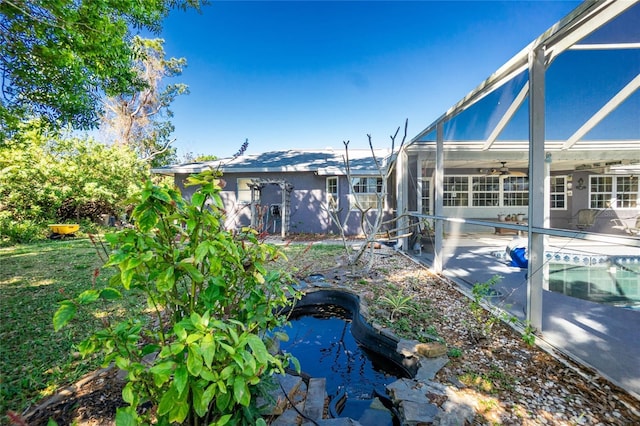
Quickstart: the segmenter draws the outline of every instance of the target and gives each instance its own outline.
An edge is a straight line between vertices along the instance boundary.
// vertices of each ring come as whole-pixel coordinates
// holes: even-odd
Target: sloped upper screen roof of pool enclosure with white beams
[[[530,123],[540,122],[553,168],[621,160],[637,166],[638,19],[639,0],[584,1],[418,133],[407,150],[433,149],[440,128],[449,167],[495,167],[500,160],[526,168]],[[543,57],[536,71],[544,73],[537,80],[543,81],[538,100],[544,108],[532,121],[530,77],[536,57]]]

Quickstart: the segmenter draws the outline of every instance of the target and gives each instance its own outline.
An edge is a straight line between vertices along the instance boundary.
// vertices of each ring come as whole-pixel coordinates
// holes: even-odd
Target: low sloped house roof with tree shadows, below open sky
[[[375,158],[384,166],[389,149],[376,149]],[[152,173],[163,175],[192,174],[210,169],[229,173],[290,173],[314,172],[318,175],[345,175],[344,150],[287,150],[261,154],[241,155],[214,161],[177,164],[158,167]],[[368,149],[349,149],[349,165],[352,174],[377,174],[375,159]]]

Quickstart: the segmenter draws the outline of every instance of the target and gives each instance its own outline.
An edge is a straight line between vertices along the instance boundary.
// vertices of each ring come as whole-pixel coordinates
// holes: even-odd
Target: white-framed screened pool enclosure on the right
[[[407,144],[403,242],[640,394],[640,3],[587,1]],[[428,95],[428,94],[427,94]],[[427,96],[428,98],[428,96]],[[428,230],[428,232],[424,232]],[[506,247],[526,250],[526,268]]]

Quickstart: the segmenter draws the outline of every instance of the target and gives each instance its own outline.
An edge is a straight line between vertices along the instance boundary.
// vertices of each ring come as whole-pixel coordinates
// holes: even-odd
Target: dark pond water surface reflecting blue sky
[[[351,326],[350,312],[335,306],[298,314],[292,316],[291,326],[283,329],[289,341],[280,346],[298,358],[304,373],[326,379],[330,397],[344,391],[347,402],[340,414],[358,419],[359,412],[368,407],[364,401],[374,397],[374,389],[385,395],[385,386],[406,373],[394,362],[360,346],[351,334]]]

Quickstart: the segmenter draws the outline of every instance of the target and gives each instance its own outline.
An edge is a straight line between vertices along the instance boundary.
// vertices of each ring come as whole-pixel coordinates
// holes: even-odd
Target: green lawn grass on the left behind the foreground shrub
[[[57,333],[52,325],[58,302],[105,285],[105,270],[93,282],[100,265],[87,239],[0,248],[0,415],[22,412],[100,365],[99,359],[81,359],[74,345],[100,328],[103,305],[79,312]],[[144,308],[138,297],[109,305],[116,314]]]

